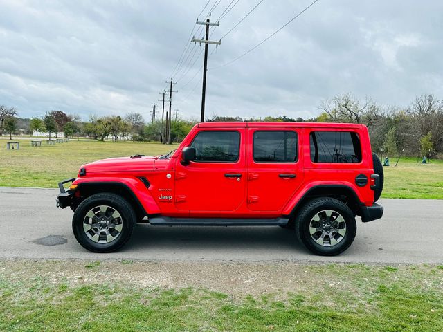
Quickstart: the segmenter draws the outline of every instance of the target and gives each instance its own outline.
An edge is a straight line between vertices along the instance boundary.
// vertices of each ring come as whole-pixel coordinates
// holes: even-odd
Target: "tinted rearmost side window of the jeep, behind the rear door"
[[[360,163],[361,144],[350,131],[312,131],[311,160],[314,163]]]

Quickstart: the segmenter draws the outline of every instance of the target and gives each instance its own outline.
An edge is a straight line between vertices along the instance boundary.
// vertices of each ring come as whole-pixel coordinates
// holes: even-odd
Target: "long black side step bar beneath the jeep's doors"
[[[288,221],[288,218],[171,218],[169,216],[154,216],[149,219],[149,223],[156,226],[284,226]]]

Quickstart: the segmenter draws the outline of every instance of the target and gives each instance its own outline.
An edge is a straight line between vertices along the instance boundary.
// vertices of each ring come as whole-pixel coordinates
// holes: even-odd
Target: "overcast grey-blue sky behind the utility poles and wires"
[[[321,100],[346,92],[391,105],[422,93],[443,98],[442,1],[320,0],[251,53],[215,68],[312,1],[264,0],[222,39],[208,60],[207,116],[310,118]],[[207,2],[0,0],[0,104],[21,117],[60,109],[84,120],[90,113],[149,118],[189,44],[172,75],[179,91],[172,109],[199,118],[204,47],[188,37],[193,28],[202,37],[195,20]],[[211,39],[258,2],[235,0]],[[199,19],[215,6],[216,21],[230,3],[210,0]]]

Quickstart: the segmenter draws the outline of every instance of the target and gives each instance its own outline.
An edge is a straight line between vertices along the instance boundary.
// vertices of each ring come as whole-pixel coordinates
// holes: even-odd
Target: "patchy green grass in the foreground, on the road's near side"
[[[298,265],[293,291],[250,294],[100,279],[143,262],[71,264],[75,278],[64,261],[0,261],[0,331],[443,331],[443,266]]]

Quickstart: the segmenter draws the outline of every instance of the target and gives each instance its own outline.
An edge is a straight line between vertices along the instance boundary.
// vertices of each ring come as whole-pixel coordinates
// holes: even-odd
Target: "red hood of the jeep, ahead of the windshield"
[[[157,158],[146,156],[139,158],[107,158],[82,165],[80,169],[86,169],[87,175],[90,173],[152,171]]]

